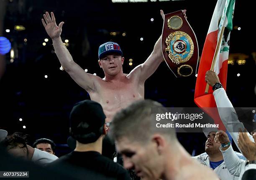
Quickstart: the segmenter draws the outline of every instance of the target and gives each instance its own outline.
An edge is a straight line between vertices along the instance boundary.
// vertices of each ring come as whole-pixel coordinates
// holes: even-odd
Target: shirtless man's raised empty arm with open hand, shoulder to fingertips
[[[93,75],[87,74],[77,63],[73,61],[73,58],[67,48],[64,46],[61,41],[61,31],[62,25],[64,22],[59,23],[59,26],[56,25],[54,13],[51,12],[51,17],[48,12],[44,14],[44,19],[42,23],[47,34],[50,36],[53,42],[55,53],[64,68],[65,71],[76,81],[79,86],[81,86],[86,91],[94,91],[94,81]]]

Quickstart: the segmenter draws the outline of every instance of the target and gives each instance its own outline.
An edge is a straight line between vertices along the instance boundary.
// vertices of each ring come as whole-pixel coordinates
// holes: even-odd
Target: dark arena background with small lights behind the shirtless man
[[[120,44],[125,57],[124,73],[129,73],[143,63],[161,35],[164,13],[187,10],[187,20],[192,26],[202,53],[205,37],[217,0],[168,1],[148,3],[112,3],[111,0],[9,0],[4,19],[3,36],[10,39],[18,57],[10,63],[6,55],[5,74],[0,79],[0,129],[8,134],[24,132],[32,143],[46,137],[58,146],[66,144],[69,129],[69,112],[81,100],[90,99],[65,71],[54,54],[52,42],[41,24],[45,11],[53,11],[56,22],[64,21],[62,40],[82,68],[88,73],[104,77],[98,60],[98,47],[106,41]],[[235,107],[255,107],[256,53],[254,12],[252,1],[238,0],[235,6],[230,35],[230,54],[242,53],[246,63],[228,65],[227,94]],[[154,18],[154,21],[151,21]],[[16,31],[14,25],[26,30]],[[241,30],[237,30],[241,27]],[[10,29],[6,33],[5,29]],[[117,35],[110,35],[117,32]],[[122,33],[126,35],[123,36]],[[143,37],[143,41],[140,38]],[[24,42],[24,38],[27,42]],[[129,66],[128,59],[133,59]],[[237,74],[241,76],[237,76]],[[47,75],[48,78],[44,78]],[[194,103],[196,77],[175,78],[165,63],[161,63],[145,84],[145,99],[153,99],[168,107],[196,107]],[[19,121],[22,118],[23,121]],[[23,126],[26,129],[23,129]],[[201,133],[178,134],[180,142],[192,153],[204,151],[206,137]],[[66,152],[59,147],[59,155]]]

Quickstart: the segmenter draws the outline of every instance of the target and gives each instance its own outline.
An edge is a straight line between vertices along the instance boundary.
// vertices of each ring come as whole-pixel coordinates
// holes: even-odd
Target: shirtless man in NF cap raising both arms
[[[183,11],[185,15],[185,10]],[[164,18],[164,13],[161,10]],[[123,73],[124,57],[118,43],[107,42],[99,47],[99,65],[104,71],[105,77],[86,73],[73,61],[67,48],[61,41],[61,31],[64,22],[56,25],[54,13],[51,17],[48,12],[42,19],[47,34],[53,41],[53,46],[59,61],[65,71],[85,89],[93,101],[101,104],[107,117],[106,122],[111,122],[114,114],[125,108],[133,101],[144,99],[144,83],[164,60],[161,51],[161,37],[157,40],[154,50],[147,60],[134,68],[129,74]]]

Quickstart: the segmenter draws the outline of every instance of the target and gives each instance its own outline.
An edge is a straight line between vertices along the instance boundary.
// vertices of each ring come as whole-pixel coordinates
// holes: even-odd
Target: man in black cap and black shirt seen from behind
[[[101,155],[102,139],[106,134],[106,116],[102,106],[91,100],[74,105],[70,113],[70,134],[76,139],[76,148],[68,155],[51,163],[51,167],[73,165],[118,180],[131,180],[128,171],[118,163]],[[77,173],[77,172],[76,172]],[[85,178],[86,179],[86,178]]]

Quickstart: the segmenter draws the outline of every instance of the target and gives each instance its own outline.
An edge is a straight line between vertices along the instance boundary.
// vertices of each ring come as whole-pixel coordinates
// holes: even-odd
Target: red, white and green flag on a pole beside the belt
[[[194,101],[199,107],[216,107],[212,89],[209,88],[208,94],[205,94],[205,73],[210,70],[212,60],[215,54],[218,40],[221,44],[219,52],[216,52],[217,60],[214,65],[214,71],[218,74],[221,84],[226,89],[227,72],[228,72],[228,51],[230,31],[232,30],[232,19],[235,8],[235,0],[218,0],[215,10],[212,15],[210,27],[205,39],[204,48],[199,64],[197,81],[195,86]],[[221,28],[225,26],[223,36],[220,36]],[[215,121],[215,124],[220,124],[219,129],[225,130],[218,112],[207,112]]]

